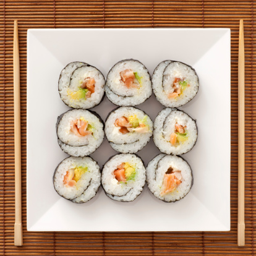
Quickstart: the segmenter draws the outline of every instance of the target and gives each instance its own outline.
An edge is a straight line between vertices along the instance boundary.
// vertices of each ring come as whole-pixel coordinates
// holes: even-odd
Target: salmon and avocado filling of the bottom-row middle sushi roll
[[[129,163],[121,163],[114,170],[114,177],[119,182],[127,182],[135,179],[135,168],[130,166]]]

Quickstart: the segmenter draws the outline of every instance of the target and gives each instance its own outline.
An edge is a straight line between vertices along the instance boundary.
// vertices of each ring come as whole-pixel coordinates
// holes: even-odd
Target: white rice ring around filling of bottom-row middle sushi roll
[[[134,180],[118,182],[114,176],[114,170],[121,163],[129,163],[135,166],[136,176]],[[143,190],[146,179],[146,170],[142,160],[133,154],[119,154],[113,156],[103,167],[101,175],[101,184],[106,195],[113,200],[130,202],[140,195]]]

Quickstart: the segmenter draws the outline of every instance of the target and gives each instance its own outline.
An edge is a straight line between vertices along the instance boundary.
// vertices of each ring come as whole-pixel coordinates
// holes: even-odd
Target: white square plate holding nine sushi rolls
[[[27,53],[28,231],[228,231],[230,229],[230,30],[229,29],[33,29]],[[138,59],[150,74],[163,60],[197,71],[197,96],[180,109],[197,119],[198,140],[183,155],[194,186],[179,202],[164,203],[144,187],[130,203],[115,202],[103,189],[75,204],[53,187],[54,169],[67,157],[57,142],[57,117],[69,109],[59,98],[64,66],[85,61],[103,75],[122,59]],[[106,98],[93,110],[105,121],[116,108]],[[164,107],[151,98],[138,108],[152,120]],[[148,164],[159,150],[152,140],[138,153]],[[116,152],[105,141],[92,154],[100,166]]]

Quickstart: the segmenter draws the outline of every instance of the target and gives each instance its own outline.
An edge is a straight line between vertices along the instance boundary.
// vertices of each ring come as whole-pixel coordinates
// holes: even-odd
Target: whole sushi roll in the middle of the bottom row
[[[119,154],[105,163],[101,184],[106,195],[116,201],[131,202],[145,185],[146,170],[139,156]]]

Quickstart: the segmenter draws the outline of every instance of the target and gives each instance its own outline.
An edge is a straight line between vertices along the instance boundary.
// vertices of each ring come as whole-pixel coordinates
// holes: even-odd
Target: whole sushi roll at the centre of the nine
[[[121,153],[136,153],[150,140],[153,122],[134,107],[114,109],[106,119],[105,134],[111,147]]]

